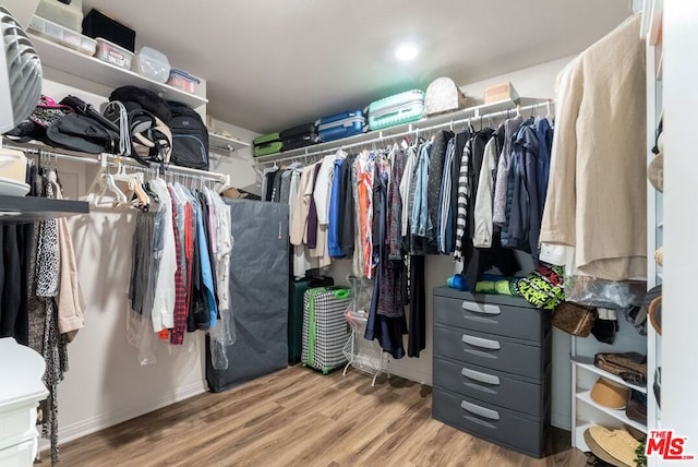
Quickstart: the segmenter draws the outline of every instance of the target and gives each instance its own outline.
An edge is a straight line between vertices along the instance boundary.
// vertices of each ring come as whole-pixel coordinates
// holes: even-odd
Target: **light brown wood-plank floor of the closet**
[[[61,446],[61,466],[583,466],[569,433],[537,460],[431,418],[431,387],[292,367]],[[50,456],[43,455],[48,466]]]

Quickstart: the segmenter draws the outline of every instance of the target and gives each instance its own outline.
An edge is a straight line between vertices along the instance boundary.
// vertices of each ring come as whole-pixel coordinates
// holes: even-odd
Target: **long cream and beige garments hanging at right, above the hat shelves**
[[[574,60],[561,85],[540,241],[583,274],[647,274],[646,64],[640,16]],[[603,109],[603,111],[601,110]],[[613,137],[599,137],[612,129]]]

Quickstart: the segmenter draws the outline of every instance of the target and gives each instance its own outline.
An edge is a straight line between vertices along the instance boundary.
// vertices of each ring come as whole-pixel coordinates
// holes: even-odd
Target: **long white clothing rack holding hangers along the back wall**
[[[510,103],[512,104],[512,103]],[[521,115],[524,116],[525,112],[527,111],[531,111],[531,113],[533,113],[534,110],[540,109],[540,108],[546,108],[549,110],[549,112],[551,111],[551,108],[554,106],[554,101],[551,99],[546,99],[545,101],[537,101],[534,104],[530,104],[530,105],[526,105],[526,106],[515,106],[515,107],[510,107],[507,108],[505,110],[498,110],[498,111],[493,111],[493,112],[489,112],[489,113],[480,113],[480,110],[483,107],[488,107],[488,106],[480,106],[480,107],[473,107],[473,108],[469,108],[469,109],[464,109],[461,111],[458,111],[456,113],[461,113],[464,111],[470,111],[472,112],[471,116],[468,116],[466,118],[459,118],[459,119],[452,119],[448,121],[444,121],[441,123],[435,123],[435,124],[430,124],[428,127],[417,127],[414,123],[409,123],[408,129],[398,133],[392,133],[392,134],[384,134],[384,130],[380,130],[376,131],[375,133],[377,134],[376,137],[370,139],[370,140],[362,140],[362,141],[357,141],[354,143],[349,143],[349,144],[341,144],[341,140],[336,141],[336,142],[330,142],[327,143],[329,144],[329,147],[324,147],[321,149],[316,149],[316,151],[310,151],[312,149],[313,146],[308,146],[305,147],[305,151],[302,153],[298,153],[298,154],[293,154],[290,156],[286,156],[286,157],[278,157],[275,158],[273,156],[270,156],[268,159],[265,160],[255,160],[254,165],[255,166],[268,166],[268,165],[277,165],[279,163],[284,163],[284,161],[289,161],[289,160],[311,160],[313,158],[320,157],[322,155],[328,154],[328,153],[333,153],[339,149],[348,149],[350,147],[362,147],[362,146],[375,146],[378,143],[383,143],[385,141],[392,141],[392,140],[396,140],[396,139],[400,139],[400,137],[405,137],[411,134],[414,134],[416,137],[419,137],[420,134],[429,134],[432,133],[436,130],[442,130],[445,128],[448,128],[453,131],[453,129],[457,125],[461,125],[461,124],[470,124],[470,123],[474,123],[474,122],[480,122],[482,123],[482,121],[485,120],[492,120],[492,119],[500,119],[502,117],[509,117],[512,116],[512,112],[515,112],[514,115]],[[442,120],[444,118],[444,116],[437,116],[436,118],[434,118],[434,120]],[[422,123],[428,123],[429,121],[423,121]],[[420,122],[417,122],[417,124],[419,124]],[[385,130],[389,130],[389,129],[385,129]],[[369,134],[369,133],[366,133]],[[363,135],[361,135],[363,136]],[[359,137],[361,137],[359,136]],[[353,137],[352,137],[353,139]],[[335,143],[335,144],[332,144]],[[298,151],[298,149],[296,149]],[[282,153],[281,153],[282,155]]]

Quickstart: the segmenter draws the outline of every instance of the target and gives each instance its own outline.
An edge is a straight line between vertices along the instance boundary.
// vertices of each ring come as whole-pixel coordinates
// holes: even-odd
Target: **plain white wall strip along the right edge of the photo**
[[[664,2],[664,277],[662,299],[661,428],[687,436],[684,454],[698,456],[698,355],[696,313],[696,208],[698,159],[695,115],[698,109],[698,3]],[[694,207],[690,207],[694,206]],[[697,457],[698,458],[698,457]],[[669,464],[669,463],[666,463]],[[695,465],[696,460],[676,463]],[[664,464],[662,464],[664,465]]]

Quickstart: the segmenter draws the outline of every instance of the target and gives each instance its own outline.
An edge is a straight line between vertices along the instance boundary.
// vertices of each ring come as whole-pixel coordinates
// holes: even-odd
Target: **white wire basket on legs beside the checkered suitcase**
[[[371,302],[371,288],[366,286],[363,279],[356,277],[348,277],[348,279],[353,288],[353,300],[345,313],[345,318],[351,326],[351,336],[344,348],[347,366],[342,374],[347,374],[349,367],[353,367],[357,370],[373,375],[371,385],[374,386],[381,373],[385,372],[387,376],[390,378],[387,371],[388,358],[376,340],[366,340],[363,338],[368,322],[368,313],[363,310],[368,307],[363,307],[362,304],[366,303],[363,300],[365,299],[366,291],[369,297],[368,303]]]

